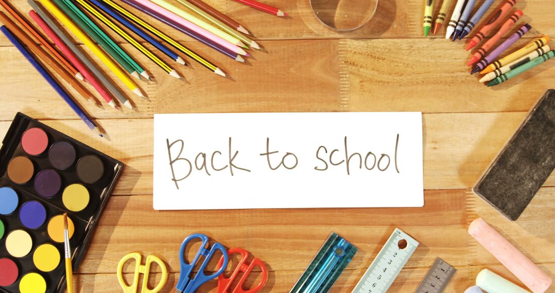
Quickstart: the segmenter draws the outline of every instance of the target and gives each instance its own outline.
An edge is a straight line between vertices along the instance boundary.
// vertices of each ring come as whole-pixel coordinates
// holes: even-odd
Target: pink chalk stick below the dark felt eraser
[[[532,292],[543,293],[551,286],[552,280],[545,272],[482,218],[472,221],[468,233]]]

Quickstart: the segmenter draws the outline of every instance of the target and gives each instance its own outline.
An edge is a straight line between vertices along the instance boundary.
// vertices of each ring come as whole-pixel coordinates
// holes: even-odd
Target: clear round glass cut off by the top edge
[[[335,31],[361,28],[374,17],[378,0],[310,0],[316,18]]]

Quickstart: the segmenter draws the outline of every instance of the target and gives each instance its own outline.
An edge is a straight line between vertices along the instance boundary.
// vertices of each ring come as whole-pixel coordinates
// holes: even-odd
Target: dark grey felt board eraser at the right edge
[[[555,90],[549,89],[472,191],[514,221],[555,168]]]

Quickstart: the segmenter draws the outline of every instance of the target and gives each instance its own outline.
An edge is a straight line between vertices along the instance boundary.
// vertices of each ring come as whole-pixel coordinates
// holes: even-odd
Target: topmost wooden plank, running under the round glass
[[[20,11],[27,16],[30,6],[26,0],[12,1]],[[384,1],[379,2],[379,6],[374,19],[366,26],[353,32],[336,32],[323,26],[314,16],[310,8],[310,0],[269,0],[265,1],[270,5],[280,8],[289,14],[289,17],[280,18],[271,16],[242,4],[226,0],[207,0],[219,11],[228,14],[254,34],[257,40],[268,39],[314,39],[314,38],[422,38],[422,11],[423,3],[420,0],[407,1]],[[481,4],[483,0],[477,1]],[[439,10],[440,2],[435,5],[434,13]],[[499,1],[496,2],[501,3]],[[122,6],[129,8],[126,4]],[[530,22],[534,28],[541,33],[555,35],[555,27],[552,26],[551,12],[555,10],[555,3],[549,0],[528,0],[520,1],[516,8],[522,9],[525,16],[522,23]],[[140,13],[134,8],[130,11],[137,13],[143,19],[148,19],[149,23],[155,24],[170,36],[179,41],[191,41],[191,39],[174,29],[155,21],[144,13]],[[486,14],[493,12],[493,8]],[[28,17],[28,16],[27,16]],[[434,14],[435,17],[435,14]],[[480,24],[478,24],[480,26]],[[441,30],[445,34],[445,28]],[[440,34],[441,34],[440,33]],[[442,38],[435,36],[430,38]],[[122,38],[115,37],[118,41]],[[0,38],[0,46],[9,46],[5,38]]]

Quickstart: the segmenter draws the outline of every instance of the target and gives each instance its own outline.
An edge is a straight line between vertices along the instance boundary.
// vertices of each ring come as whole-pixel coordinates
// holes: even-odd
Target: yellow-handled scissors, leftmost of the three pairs
[[[168,281],[168,270],[166,269],[166,265],[162,260],[154,255],[147,256],[147,263],[145,265],[141,265],[141,260],[143,256],[139,254],[139,252],[132,252],[122,258],[118,264],[118,281],[119,285],[122,286],[123,292],[125,293],[137,293],[137,288],[139,287],[139,274],[144,274],[143,277],[143,286],[140,289],[140,293],[157,293],[166,285],[166,281]],[[131,286],[127,285],[123,280],[123,265],[130,259],[135,260],[135,274],[133,275],[133,284]],[[158,283],[158,285],[150,290],[148,289],[148,275],[150,273],[150,265],[156,262],[160,269],[162,269],[162,280]]]

